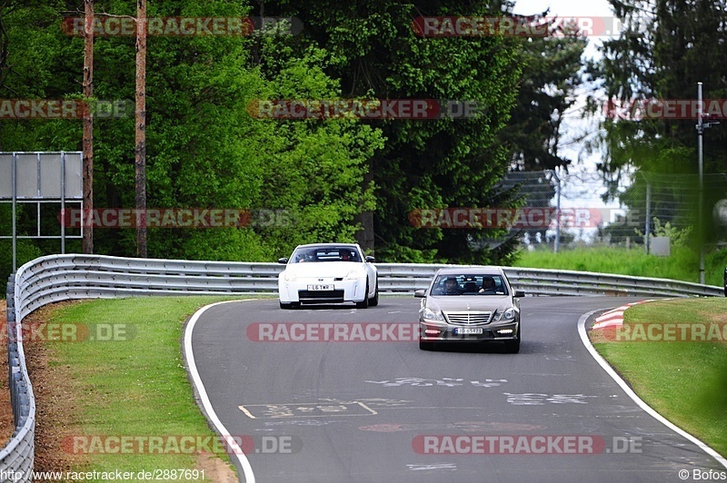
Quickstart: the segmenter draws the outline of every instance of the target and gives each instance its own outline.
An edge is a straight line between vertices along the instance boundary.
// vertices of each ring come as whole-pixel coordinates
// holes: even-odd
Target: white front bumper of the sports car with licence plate
[[[311,286],[329,285],[333,290],[310,290]],[[282,303],[343,303],[361,302],[366,298],[366,280],[298,279],[278,281],[278,296]]]

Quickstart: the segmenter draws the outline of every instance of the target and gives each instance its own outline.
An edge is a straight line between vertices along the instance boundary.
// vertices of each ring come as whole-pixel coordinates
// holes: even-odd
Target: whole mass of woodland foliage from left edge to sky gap
[[[135,15],[135,2],[98,0],[97,17]],[[505,230],[418,229],[416,209],[508,207],[498,188],[511,169],[567,166],[558,154],[563,111],[579,84],[581,38],[509,35],[430,38],[419,15],[510,15],[509,2],[152,0],[149,17],[294,16],[302,32],[150,36],[146,58],[147,207],[284,212],[221,229],[149,230],[149,256],[272,261],[302,242],[360,240],[381,261],[507,263]],[[82,97],[79,0],[5,2],[0,98]],[[3,36],[4,35],[4,36]],[[134,101],[133,36],[95,37],[95,98]],[[435,99],[476,102],[468,119],[258,119],[256,100]],[[533,103],[538,109],[533,110]],[[132,113],[129,113],[132,114]],[[95,208],[134,207],[134,119],[96,119]],[[79,120],[0,122],[0,150],[80,151]],[[0,230],[9,212],[0,206]],[[21,206],[20,232],[35,230]],[[55,226],[57,209],[42,213]],[[9,242],[0,251],[9,252]],[[55,253],[23,242],[18,261]],[[66,251],[81,251],[80,241]],[[133,256],[135,232],[95,229],[95,252]],[[9,271],[0,257],[0,273]]]

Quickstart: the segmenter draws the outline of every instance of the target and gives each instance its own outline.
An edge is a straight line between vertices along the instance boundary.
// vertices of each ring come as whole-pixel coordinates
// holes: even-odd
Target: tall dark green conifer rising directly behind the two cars
[[[515,242],[482,247],[498,233],[420,229],[416,210],[443,206],[506,206],[493,192],[507,170],[497,133],[507,123],[520,75],[518,41],[503,36],[427,38],[415,34],[420,15],[493,15],[480,2],[400,3],[290,1],[264,5],[266,15],[304,18],[308,45],[331,55],[326,73],[341,79],[344,97],[475,101],[486,111],[466,120],[375,121],[386,138],[369,163],[375,185],[373,223],[377,256],[387,261],[503,261]],[[262,64],[266,67],[266,61]],[[501,232],[502,233],[502,232]],[[486,235],[486,236],[485,236]],[[368,238],[368,237],[366,237]]]

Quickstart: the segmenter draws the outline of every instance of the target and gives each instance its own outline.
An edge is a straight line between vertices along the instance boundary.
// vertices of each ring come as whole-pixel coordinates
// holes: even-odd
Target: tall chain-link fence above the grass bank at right
[[[699,237],[707,246],[727,244],[727,173],[704,174],[702,185],[702,210],[696,174],[634,172],[611,202],[603,201],[600,173],[508,173],[498,188],[520,194],[522,208],[513,212],[510,232],[524,246],[557,252],[596,243],[650,252],[654,236],[672,243]]]

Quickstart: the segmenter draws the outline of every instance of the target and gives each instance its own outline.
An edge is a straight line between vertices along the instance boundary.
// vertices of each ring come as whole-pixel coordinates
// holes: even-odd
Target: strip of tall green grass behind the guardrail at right
[[[704,257],[704,281],[722,286],[727,251],[710,251]],[[699,254],[686,247],[672,247],[669,257],[647,255],[643,248],[583,247],[573,250],[522,251],[515,267],[553,270],[597,271],[636,277],[699,281]]]

